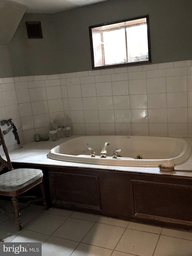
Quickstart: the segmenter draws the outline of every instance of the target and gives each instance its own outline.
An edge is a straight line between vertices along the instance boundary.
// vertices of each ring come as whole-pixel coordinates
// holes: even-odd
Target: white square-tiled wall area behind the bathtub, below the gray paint
[[[191,61],[0,78],[0,119],[26,142],[64,114],[73,134],[191,137]]]

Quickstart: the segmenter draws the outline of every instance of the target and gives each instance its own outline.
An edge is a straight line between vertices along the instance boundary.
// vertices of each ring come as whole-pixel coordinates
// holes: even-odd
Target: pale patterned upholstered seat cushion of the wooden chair
[[[40,169],[19,168],[0,175],[0,191],[14,191],[43,177]]]

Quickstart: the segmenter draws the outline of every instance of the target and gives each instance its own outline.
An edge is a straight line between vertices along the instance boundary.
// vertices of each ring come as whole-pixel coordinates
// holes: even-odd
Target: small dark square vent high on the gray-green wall
[[[28,38],[43,38],[40,21],[26,21]]]

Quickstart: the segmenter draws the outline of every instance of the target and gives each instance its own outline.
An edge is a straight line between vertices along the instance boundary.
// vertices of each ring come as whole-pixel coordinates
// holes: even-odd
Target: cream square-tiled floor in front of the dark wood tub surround
[[[7,205],[6,201],[0,204]],[[191,256],[192,233],[32,205],[15,219],[0,213],[5,242],[41,242],[42,256]]]

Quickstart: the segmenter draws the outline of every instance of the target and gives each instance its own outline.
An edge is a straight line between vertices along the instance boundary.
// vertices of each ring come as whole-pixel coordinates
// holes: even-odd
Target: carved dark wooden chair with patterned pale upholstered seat
[[[5,172],[0,175],[0,195],[10,196],[12,206],[14,208],[14,212],[7,212],[4,207],[0,206],[0,211],[7,216],[16,217],[17,230],[21,230],[21,221],[20,221],[20,211],[22,209],[27,208],[32,202],[37,202],[42,200],[44,203],[44,208],[47,210],[47,204],[45,199],[45,189],[43,182],[43,172],[39,169],[29,169],[29,168],[20,168],[14,169],[9,153],[7,150],[7,146],[5,144],[4,136],[0,127],[0,146],[3,146],[3,150],[7,161],[5,161],[0,155],[0,171],[7,167],[9,169],[8,172]],[[28,191],[29,189],[35,187],[40,184],[42,198],[30,200],[24,206],[19,207],[18,195]]]

